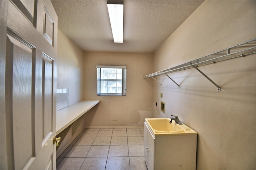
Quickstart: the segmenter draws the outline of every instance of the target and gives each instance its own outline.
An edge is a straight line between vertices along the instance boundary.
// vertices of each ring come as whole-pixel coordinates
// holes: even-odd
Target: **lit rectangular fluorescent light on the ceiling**
[[[120,1],[107,1],[108,15],[110,19],[114,42],[123,43],[124,4],[112,4],[112,2],[120,3]]]

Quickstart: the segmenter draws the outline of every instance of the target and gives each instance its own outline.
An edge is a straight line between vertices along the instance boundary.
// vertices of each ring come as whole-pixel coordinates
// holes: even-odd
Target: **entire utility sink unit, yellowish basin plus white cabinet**
[[[196,169],[197,132],[170,120],[145,119],[144,158],[148,170]]]

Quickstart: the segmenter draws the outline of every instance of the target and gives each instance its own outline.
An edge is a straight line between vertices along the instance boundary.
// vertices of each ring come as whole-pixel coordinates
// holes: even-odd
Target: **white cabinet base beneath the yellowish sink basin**
[[[144,158],[148,170],[195,170],[197,134],[154,135],[144,122]]]

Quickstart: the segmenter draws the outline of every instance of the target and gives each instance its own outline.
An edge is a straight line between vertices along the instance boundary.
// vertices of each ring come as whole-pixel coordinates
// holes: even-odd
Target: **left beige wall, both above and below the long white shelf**
[[[72,40],[58,30],[57,56],[57,89],[69,88],[69,105],[72,105],[83,100],[83,51],[77,47]],[[84,119],[84,117],[81,117],[80,119]],[[61,137],[61,141],[60,145],[56,148],[57,158],[84,128],[83,120],[80,119],[76,122],[82,121],[82,123],[74,134],[72,125],[58,134],[58,137]]]

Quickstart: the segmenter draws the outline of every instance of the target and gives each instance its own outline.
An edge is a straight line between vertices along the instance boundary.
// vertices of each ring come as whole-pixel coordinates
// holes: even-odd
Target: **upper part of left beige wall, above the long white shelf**
[[[69,88],[69,104],[83,100],[83,51],[58,30],[57,89]]]

